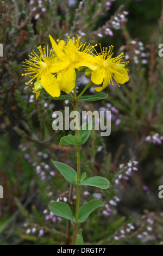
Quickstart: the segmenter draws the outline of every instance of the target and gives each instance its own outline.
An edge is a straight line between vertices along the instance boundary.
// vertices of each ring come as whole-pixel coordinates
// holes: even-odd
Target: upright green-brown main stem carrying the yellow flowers
[[[78,101],[77,101],[77,87],[74,88],[74,100],[73,100],[73,109],[74,111],[78,111]],[[77,129],[76,129],[76,136],[79,137],[79,120],[77,115]],[[80,203],[80,186],[78,185],[80,181],[80,147],[77,145],[77,200],[76,200],[76,223],[74,224],[74,231],[73,231],[73,239],[72,245],[76,245],[77,234],[78,234],[78,216],[79,216],[79,203]]]

